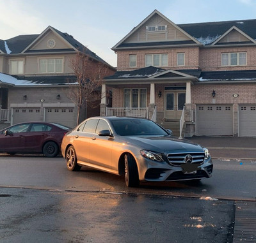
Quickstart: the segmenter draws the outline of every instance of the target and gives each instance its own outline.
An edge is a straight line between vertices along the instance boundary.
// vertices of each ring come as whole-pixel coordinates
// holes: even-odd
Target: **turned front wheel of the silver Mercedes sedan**
[[[139,186],[140,180],[138,175],[138,168],[134,158],[131,154],[125,154],[124,156],[124,168],[125,168],[125,184],[128,187]]]

